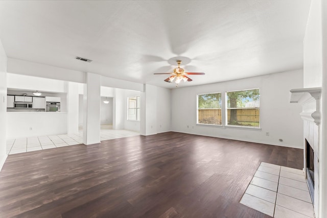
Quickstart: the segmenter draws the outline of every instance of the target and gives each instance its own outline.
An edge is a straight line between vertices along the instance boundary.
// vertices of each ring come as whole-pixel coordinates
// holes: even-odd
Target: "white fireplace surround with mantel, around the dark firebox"
[[[290,102],[299,103],[302,105],[302,112],[300,113],[303,119],[303,169],[307,178],[308,186],[310,184],[309,175],[307,174],[307,142],[314,151],[314,195],[313,205],[315,214],[318,214],[319,206],[319,143],[321,143],[320,136],[320,96],[321,88],[301,88],[290,90]],[[320,217],[319,217],[320,218]],[[322,218],[322,217],[321,217]]]

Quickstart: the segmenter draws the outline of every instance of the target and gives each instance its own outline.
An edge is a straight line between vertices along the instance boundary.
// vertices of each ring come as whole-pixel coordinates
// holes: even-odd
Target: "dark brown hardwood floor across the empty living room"
[[[303,151],[168,132],[9,155],[0,217],[269,217],[239,203],[261,161]]]

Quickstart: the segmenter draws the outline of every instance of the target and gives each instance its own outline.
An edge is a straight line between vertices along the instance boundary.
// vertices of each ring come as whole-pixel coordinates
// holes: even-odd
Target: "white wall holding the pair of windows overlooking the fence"
[[[301,106],[289,103],[289,90],[301,87],[303,71],[294,70],[242,80],[172,90],[172,130],[302,148]],[[260,88],[261,131],[196,125],[197,94]],[[189,127],[188,127],[189,126]],[[266,136],[269,132],[269,136]],[[279,139],[283,139],[280,142]]]

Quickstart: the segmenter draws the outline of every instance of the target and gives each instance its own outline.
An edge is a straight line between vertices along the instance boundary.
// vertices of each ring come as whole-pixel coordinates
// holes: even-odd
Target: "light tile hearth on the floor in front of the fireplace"
[[[240,203],[277,218],[315,217],[303,172],[265,162],[255,172]]]

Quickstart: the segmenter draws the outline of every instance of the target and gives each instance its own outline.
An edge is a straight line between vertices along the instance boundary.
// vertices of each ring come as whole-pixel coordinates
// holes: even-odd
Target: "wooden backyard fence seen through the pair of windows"
[[[230,110],[236,110],[238,122],[259,123],[260,110],[259,108],[238,108],[227,109],[227,120],[230,118]],[[221,109],[199,109],[199,123],[201,120],[207,120],[216,117],[221,120]]]

